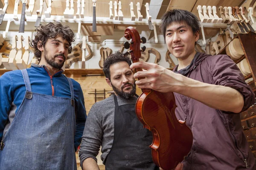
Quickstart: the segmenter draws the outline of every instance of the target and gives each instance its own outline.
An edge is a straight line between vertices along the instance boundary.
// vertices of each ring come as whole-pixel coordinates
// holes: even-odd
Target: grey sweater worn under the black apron
[[[135,104],[137,101],[136,96],[130,99],[116,97],[119,106]],[[105,164],[114,139],[114,113],[115,103],[113,95],[100,102],[96,102],[90,109],[85,122],[84,134],[79,150],[81,167],[87,158],[93,158],[97,161],[96,156],[99,153],[100,146],[102,146],[101,159],[103,164]]]

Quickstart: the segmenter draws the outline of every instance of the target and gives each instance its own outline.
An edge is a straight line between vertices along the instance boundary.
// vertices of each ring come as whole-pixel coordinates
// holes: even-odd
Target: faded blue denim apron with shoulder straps
[[[3,136],[0,170],[76,170],[75,101],[32,92],[22,70],[26,94],[9,130]]]

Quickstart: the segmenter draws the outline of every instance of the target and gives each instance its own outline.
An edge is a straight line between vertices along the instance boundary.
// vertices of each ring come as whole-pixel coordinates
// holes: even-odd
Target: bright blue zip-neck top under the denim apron
[[[32,64],[31,68],[27,68],[31,83],[32,92],[46,94],[58,97],[71,98],[70,86],[67,78],[62,74],[62,70],[51,75],[47,68],[42,65]],[[74,136],[74,144],[77,147],[81,143],[81,136],[86,121],[86,111],[84,107],[84,95],[78,82],[72,79],[75,95],[76,110],[76,133]],[[12,119],[17,113],[23,98],[25,96],[26,87],[20,70],[9,71],[0,77],[0,140],[3,138],[6,124],[12,123]],[[44,103],[38,103],[44,105]]]

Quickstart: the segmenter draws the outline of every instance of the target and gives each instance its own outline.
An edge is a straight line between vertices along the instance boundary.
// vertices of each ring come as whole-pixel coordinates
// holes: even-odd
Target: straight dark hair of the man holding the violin
[[[188,26],[192,28],[193,33],[199,33],[200,31],[200,23],[198,17],[192,14],[189,11],[183,9],[172,9],[167,11],[163,17],[161,18],[161,31],[164,37],[164,41],[166,41],[166,28],[172,22],[185,22]]]

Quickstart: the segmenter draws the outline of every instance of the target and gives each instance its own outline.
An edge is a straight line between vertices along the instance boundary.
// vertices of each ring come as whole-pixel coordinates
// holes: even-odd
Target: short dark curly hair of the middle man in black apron
[[[105,77],[110,80],[110,66],[122,61],[127,62],[129,66],[131,65],[131,59],[128,56],[123,56],[122,53],[120,53],[119,51],[116,51],[115,53],[108,56],[103,64],[103,72],[105,74]]]

